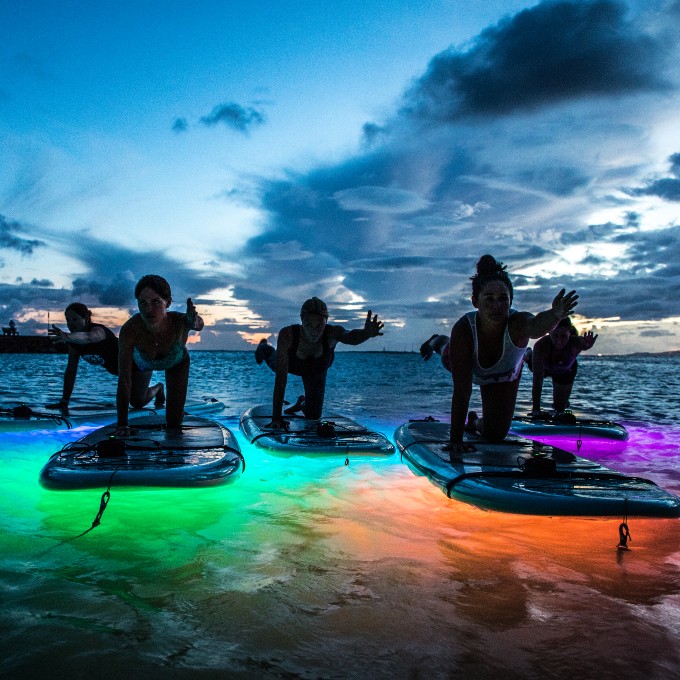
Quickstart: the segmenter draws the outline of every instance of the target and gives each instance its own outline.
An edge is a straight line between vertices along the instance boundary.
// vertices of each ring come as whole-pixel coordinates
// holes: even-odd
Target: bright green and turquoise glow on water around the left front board
[[[357,475],[367,465],[390,466],[384,460],[346,466],[343,456],[279,458],[241,440],[246,470],[234,483],[198,489],[113,486],[101,524],[79,535],[90,528],[104,489],[51,491],[40,486],[38,476],[52,453],[82,435],[2,438],[3,561],[25,562],[69,581],[94,579],[107,591],[129,593],[131,579],[137,596],[152,599],[170,597],[175,587],[184,592],[192,583],[200,590],[257,590],[322,561],[336,531],[334,519],[351,503]],[[120,578],[124,585],[110,583]]]

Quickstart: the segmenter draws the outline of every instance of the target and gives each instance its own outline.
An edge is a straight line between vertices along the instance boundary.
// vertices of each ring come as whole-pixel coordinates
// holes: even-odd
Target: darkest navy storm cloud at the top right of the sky
[[[565,100],[668,89],[663,46],[614,0],[546,2],[432,59],[405,97],[420,119],[504,115]]]

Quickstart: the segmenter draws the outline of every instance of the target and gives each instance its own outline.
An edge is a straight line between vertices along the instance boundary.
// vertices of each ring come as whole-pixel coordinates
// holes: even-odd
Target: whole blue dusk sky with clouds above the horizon
[[[593,352],[680,349],[680,1],[0,0],[0,318],[115,331],[164,276],[193,349],[302,302],[411,351],[503,261]]]

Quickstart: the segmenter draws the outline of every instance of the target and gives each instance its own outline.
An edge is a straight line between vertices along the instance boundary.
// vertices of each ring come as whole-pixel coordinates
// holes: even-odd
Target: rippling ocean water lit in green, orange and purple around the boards
[[[254,353],[191,356],[189,396],[224,401],[215,419],[241,443],[232,485],[114,486],[79,536],[103,490],[47,491],[38,473],[86,431],[0,432],[2,677],[680,678],[677,520],[630,519],[623,552],[621,518],[486,512],[398,453],[276,457],[238,431],[271,403],[273,373]],[[65,363],[1,356],[0,404],[56,401]],[[583,356],[572,408],[630,439],[580,454],[680,495],[678,385],[680,357]],[[451,389],[437,357],[339,352],[326,404],[392,438],[448,418]],[[530,389],[525,372],[518,413]],[[291,377],[287,399],[299,393]],[[72,403],[114,395],[81,362]]]

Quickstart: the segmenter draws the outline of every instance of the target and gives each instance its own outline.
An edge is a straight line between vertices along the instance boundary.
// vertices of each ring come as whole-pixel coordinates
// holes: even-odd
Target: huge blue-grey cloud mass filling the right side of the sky
[[[677,315],[677,233],[622,189],[647,172],[645,121],[678,106],[677,45],[649,28],[670,16],[546,2],[435,56],[356,153],[260,179],[266,220],[236,294],[272,331],[318,295],[332,316],[358,323],[371,307],[398,320],[386,342],[413,341],[470,309],[469,277],[491,252],[521,309],[568,287],[591,318]]]

